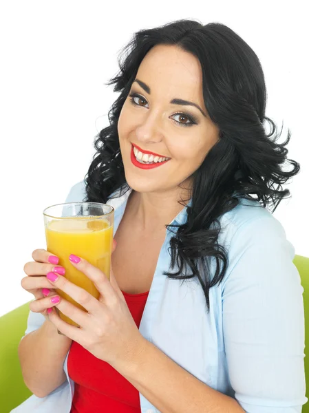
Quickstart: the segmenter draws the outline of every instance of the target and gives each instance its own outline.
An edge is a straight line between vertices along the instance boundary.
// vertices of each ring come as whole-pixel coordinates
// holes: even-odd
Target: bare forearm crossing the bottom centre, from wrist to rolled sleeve
[[[162,413],[244,413],[235,399],[213,390],[146,339],[134,357],[113,367]]]

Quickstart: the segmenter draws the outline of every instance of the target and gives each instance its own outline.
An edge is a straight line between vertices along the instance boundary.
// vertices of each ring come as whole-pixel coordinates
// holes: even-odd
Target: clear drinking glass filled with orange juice
[[[43,211],[47,251],[59,258],[58,265],[65,268],[65,275],[96,299],[100,293],[94,283],[69,260],[71,254],[84,258],[100,268],[109,279],[111,248],[114,235],[114,208],[99,202],[67,202],[47,207]],[[85,308],[76,303],[70,295],[56,288],[56,293],[70,301],[74,306]],[[73,320],[56,311],[61,319],[72,326],[79,327]],[[59,334],[62,334],[58,330]]]

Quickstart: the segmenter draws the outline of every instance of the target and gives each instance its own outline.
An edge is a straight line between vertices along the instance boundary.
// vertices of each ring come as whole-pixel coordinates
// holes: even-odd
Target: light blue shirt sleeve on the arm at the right
[[[242,224],[228,256],[222,312],[235,399],[246,413],[301,413],[308,398],[295,248],[270,215]]]

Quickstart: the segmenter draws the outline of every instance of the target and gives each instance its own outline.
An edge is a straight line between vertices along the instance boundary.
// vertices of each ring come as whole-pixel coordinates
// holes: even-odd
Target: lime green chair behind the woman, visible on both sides
[[[305,314],[309,315],[309,258],[295,255],[294,264],[297,266],[303,286],[303,306]],[[1,413],[9,413],[31,396],[21,375],[21,366],[17,348],[21,337],[25,334],[29,314],[29,302],[10,313],[0,317],[0,401]],[[305,320],[305,341],[309,343],[309,317]],[[305,354],[307,351],[305,348]],[[306,382],[309,383],[309,357],[305,357]],[[307,379],[308,377],[308,379]],[[307,385],[306,396],[309,394]],[[302,413],[309,413],[309,403],[303,406]]]

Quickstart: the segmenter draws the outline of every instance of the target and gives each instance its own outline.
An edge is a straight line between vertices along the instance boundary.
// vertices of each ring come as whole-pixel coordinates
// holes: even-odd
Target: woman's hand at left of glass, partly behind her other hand
[[[34,295],[34,301],[31,301],[29,305],[30,310],[34,313],[41,313],[45,319],[49,319],[47,308],[57,304],[53,304],[50,300],[52,297],[58,297],[58,295],[56,295],[56,290],[46,275],[57,266],[56,264],[51,264],[49,260],[54,260],[56,263],[57,257],[44,249],[36,249],[32,253],[32,258],[34,261],[27,262],[23,267],[27,277],[21,279],[21,286]],[[60,268],[63,267],[60,266]]]

